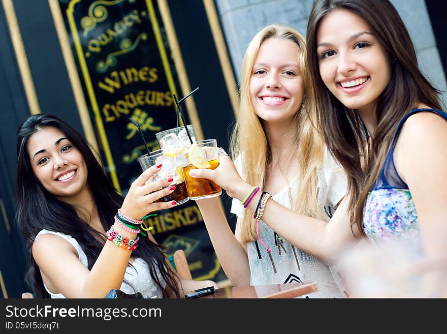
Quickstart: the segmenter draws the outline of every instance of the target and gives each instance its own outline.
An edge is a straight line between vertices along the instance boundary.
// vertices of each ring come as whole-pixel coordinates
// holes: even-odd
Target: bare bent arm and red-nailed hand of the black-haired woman
[[[123,215],[141,219],[148,212],[166,209],[172,203],[153,203],[173,192],[168,180],[146,181],[159,170],[153,166],[144,171],[132,184],[121,207]],[[156,191],[157,189],[164,188]],[[113,222],[110,222],[111,224]],[[114,224],[113,229],[124,237],[135,234]],[[69,298],[102,298],[110,289],[119,289],[132,251],[123,250],[106,241],[103,250],[89,271],[79,260],[77,251],[67,240],[57,235],[41,235],[34,241],[33,257],[50,291]]]

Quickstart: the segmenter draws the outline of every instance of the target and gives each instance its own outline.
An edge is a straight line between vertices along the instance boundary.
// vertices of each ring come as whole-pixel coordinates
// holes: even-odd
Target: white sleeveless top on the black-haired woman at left
[[[79,242],[68,234],[63,234],[59,232],[53,232],[49,230],[42,230],[37,235],[36,238],[39,235],[42,234],[54,234],[57,236],[60,236],[64,239],[66,239],[68,242],[70,242],[71,245],[75,248],[75,250],[78,252],[79,261],[82,262],[83,265],[88,267],[88,261],[87,256],[85,255],[84,251],[82,250],[81,246],[79,245]],[[163,292],[161,289],[159,289],[155,283],[152,281],[152,278],[150,276],[149,267],[147,266],[146,262],[142,260],[141,258],[136,258],[134,263],[132,263],[133,267],[127,266],[126,272],[124,274],[124,280],[126,282],[129,282],[134,288],[123,282],[121,284],[121,287],[119,288],[121,291],[128,293],[128,294],[134,294],[136,292],[141,292],[145,298],[152,298],[156,296],[157,298],[163,298]],[[164,281],[163,277],[160,275],[158,268],[156,268],[156,273],[158,275],[158,279],[163,285],[166,285],[166,282]],[[45,286],[45,283],[44,283]],[[45,289],[50,294],[51,298],[65,298],[65,296],[61,293],[52,293],[48,288],[45,286]]]

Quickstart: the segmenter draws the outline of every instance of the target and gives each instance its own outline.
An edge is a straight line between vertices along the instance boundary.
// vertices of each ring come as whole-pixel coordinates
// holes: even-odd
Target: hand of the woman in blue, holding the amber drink
[[[248,185],[239,175],[235,165],[227,155],[219,156],[219,166],[216,169],[191,169],[189,175],[197,178],[207,178],[225,189],[232,198],[244,198]]]

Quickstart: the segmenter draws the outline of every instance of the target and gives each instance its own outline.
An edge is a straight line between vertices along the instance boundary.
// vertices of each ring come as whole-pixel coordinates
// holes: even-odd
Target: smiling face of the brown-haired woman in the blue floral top
[[[391,80],[391,62],[366,21],[334,10],[321,21],[316,43],[320,75],[330,92],[347,108],[374,112]]]

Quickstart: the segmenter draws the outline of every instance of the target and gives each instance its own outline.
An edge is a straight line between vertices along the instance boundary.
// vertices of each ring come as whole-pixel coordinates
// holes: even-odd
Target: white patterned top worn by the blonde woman
[[[240,159],[235,161],[240,175],[243,168]],[[297,193],[296,178],[292,186],[282,189],[272,197],[273,200],[291,209]],[[325,220],[329,221],[334,214],[334,206],[338,204],[346,193],[347,180],[341,167],[336,164],[325,147],[324,166],[318,172],[318,205]],[[244,206],[237,199],[233,199],[231,212],[243,218]],[[251,212],[250,212],[251,213]],[[250,241],[247,244],[248,262],[250,265],[250,284],[282,284],[292,282],[316,282],[318,291],[302,297],[306,298],[344,298],[346,295],[341,280],[332,275],[331,269],[314,256],[290,244],[284,237],[282,241],[278,235],[262,220],[259,221],[259,235],[272,251],[267,249],[260,240]],[[335,268],[334,268],[335,269]],[[335,274],[335,273],[334,273]]]

